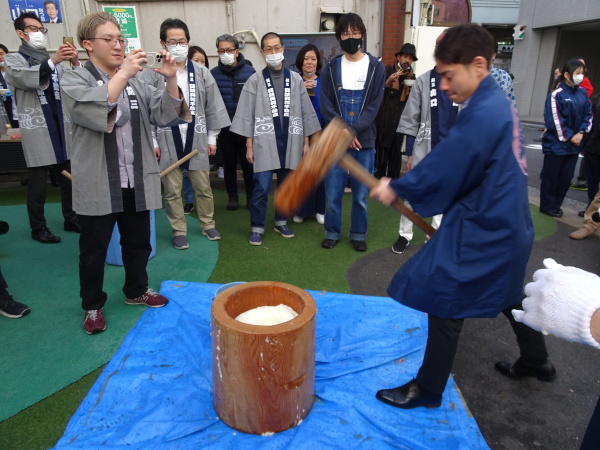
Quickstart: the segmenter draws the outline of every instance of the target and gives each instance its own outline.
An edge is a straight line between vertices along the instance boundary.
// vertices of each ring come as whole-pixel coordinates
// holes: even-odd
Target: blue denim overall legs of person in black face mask
[[[356,159],[369,173],[373,173],[375,149],[363,148],[360,151],[348,150],[348,155]],[[336,165],[325,177],[325,238],[337,241],[342,235],[342,197],[348,180],[348,173]],[[352,213],[350,221],[350,239],[364,241],[367,238],[367,195],[369,189],[362,183],[350,178],[352,189]]]

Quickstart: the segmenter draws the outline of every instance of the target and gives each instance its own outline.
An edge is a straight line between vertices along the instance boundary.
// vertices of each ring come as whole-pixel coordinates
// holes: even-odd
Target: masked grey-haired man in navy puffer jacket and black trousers
[[[219,91],[225,102],[229,118],[233,120],[242,89],[254,72],[254,67],[246,63],[244,55],[239,51],[238,40],[223,34],[217,38],[217,53],[219,64],[211,70]],[[223,168],[225,176],[225,188],[229,201],[227,209],[234,211],[239,208],[239,197],[237,189],[237,165],[238,161],[242,167],[244,186],[246,188],[246,206],[250,207],[252,191],[254,190],[254,179],[252,164],[246,159],[246,138],[230,131],[229,127],[221,130],[219,134],[219,147],[223,152]]]

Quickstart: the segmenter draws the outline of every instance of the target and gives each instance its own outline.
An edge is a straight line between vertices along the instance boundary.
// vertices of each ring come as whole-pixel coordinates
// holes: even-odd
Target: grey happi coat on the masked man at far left
[[[46,118],[37,95],[38,89],[45,89],[51,82],[51,77],[40,84],[40,65],[29,67],[29,63],[20,53],[9,53],[4,60],[6,82],[13,92],[17,103],[17,117],[21,131],[21,144],[25,154],[27,167],[50,166],[56,164],[56,155],[52,147]],[[58,79],[61,80],[65,69],[62,64],[56,65]],[[70,70],[68,71],[70,72]],[[65,134],[68,133],[68,123],[64,123]],[[63,136],[64,142],[64,136]],[[66,145],[66,143],[65,143]],[[70,149],[67,148],[67,151]]]

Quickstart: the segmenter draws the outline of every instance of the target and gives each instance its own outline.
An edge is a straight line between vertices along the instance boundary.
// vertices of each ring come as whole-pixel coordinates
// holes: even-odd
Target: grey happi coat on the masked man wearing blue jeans
[[[285,168],[293,170],[302,159],[304,137],[316,133],[321,126],[304,87],[304,80],[296,72],[290,72],[290,75],[292,92]],[[262,71],[246,81],[230,131],[254,139],[254,172],[281,169],[271,104]]]

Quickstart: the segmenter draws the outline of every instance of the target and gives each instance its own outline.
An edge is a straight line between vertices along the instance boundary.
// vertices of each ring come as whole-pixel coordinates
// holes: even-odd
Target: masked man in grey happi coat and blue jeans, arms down
[[[281,36],[265,34],[260,48],[267,67],[246,81],[230,128],[246,137],[246,158],[254,167],[251,245],[262,244],[273,175],[277,175],[279,186],[309,151],[308,138],[321,129],[304,80],[284,66]],[[274,230],[284,238],[294,237],[287,218],[278,211]]]

